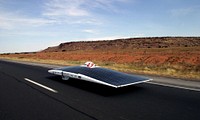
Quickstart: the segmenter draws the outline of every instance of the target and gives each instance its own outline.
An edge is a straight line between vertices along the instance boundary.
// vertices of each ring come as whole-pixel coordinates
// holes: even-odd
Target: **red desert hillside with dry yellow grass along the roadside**
[[[123,72],[200,80],[200,37],[67,42],[37,53],[3,54],[0,57],[62,65],[93,61]]]

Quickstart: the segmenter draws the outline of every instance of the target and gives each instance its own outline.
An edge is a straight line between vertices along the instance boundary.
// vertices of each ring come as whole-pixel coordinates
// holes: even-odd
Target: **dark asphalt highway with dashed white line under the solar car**
[[[200,92],[142,83],[111,88],[0,61],[0,120],[200,120]]]

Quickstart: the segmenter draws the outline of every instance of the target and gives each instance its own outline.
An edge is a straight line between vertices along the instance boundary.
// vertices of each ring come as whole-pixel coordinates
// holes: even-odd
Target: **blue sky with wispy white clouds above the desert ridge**
[[[162,36],[200,36],[200,1],[0,0],[0,53]]]

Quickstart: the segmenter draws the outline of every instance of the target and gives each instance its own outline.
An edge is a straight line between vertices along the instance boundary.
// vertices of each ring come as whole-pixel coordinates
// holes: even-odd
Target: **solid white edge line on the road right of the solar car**
[[[185,90],[192,90],[192,91],[198,91],[200,92],[200,89],[198,88],[188,88],[188,87],[182,87],[182,86],[176,86],[176,85],[167,85],[163,83],[155,83],[155,82],[147,82],[149,84],[154,84],[154,85],[160,85],[160,86],[165,86],[165,87],[172,87],[172,88],[179,88],[179,89],[185,89]]]

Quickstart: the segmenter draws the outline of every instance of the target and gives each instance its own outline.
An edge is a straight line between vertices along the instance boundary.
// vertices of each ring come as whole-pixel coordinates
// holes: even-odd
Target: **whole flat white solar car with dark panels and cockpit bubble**
[[[80,66],[68,66],[48,70],[49,73],[62,76],[63,80],[70,78],[94,82],[114,88],[125,87],[150,81],[147,77],[127,74],[96,66],[93,62],[86,62]]]

